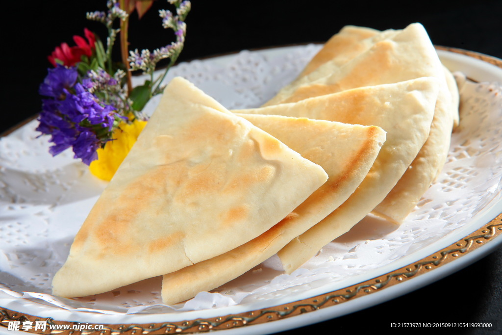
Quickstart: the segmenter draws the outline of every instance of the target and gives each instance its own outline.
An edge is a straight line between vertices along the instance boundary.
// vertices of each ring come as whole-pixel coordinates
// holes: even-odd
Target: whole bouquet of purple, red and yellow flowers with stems
[[[146,125],[143,107],[162,93],[162,81],[178,59],[185,42],[189,1],[168,0],[175,14],[160,10],[162,26],[174,31],[175,41],[154,51],[129,50],[129,15],[141,17],[153,0],[111,0],[106,12],[87,13],[87,19],[106,26],[105,44],[88,29],[74,36],[75,46],[62,43],[48,57],[53,68],[40,85],[44,97],[37,131],[50,135],[55,156],[72,148],[74,157],[89,165],[95,176],[110,180]],[[119,40],[121,62],[113,62],[112,50]],[[163,74],[155,77],[159,61],[169,59]],[[148,75],[133,87],[132,72]]]

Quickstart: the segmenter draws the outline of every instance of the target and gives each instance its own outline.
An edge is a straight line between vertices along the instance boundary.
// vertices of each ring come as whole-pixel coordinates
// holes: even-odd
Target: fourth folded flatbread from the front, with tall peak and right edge
[[[398,224],[413,210],[441,171],[450,147],[453,124],[458,123],[458,108],[452,106],[452,93],[446,81],[444,67],[421,24],[411,24],[403,30],[385,31],[382,34],[369,38],[376,42],[347,63],[330,68],[331,72],[323,69],[325,64],[319,66],[301,80],[283,88],[264,106],[299,101],[354,87],[393,83],[423,76],[437,78],[439,94],[430,139],[424,144],[411,165],[412,168],[403,175],[397,189],[374,211],[375,214]],[[382,40],[382,37],[385,38]],[[317,79],[311,80],[314,74]],[[322,74],[325,75],[319,77]]]

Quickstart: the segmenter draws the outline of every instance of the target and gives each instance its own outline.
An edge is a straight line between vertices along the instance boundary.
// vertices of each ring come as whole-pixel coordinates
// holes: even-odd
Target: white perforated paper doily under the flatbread
[[[171,69],[228,109],[259,106],[289,83],[319,46],[243,51]],[[137,79],[139,80],[139,79]],[[155,108],[154,98],[147,110]],[[502,197],[502,88],[466,82],[461,124],[438,180],[400,227],[367,217],[302,268],[284,275],[272,257],[186,303],[162,304],[161,278],[78,299],[52,296],[51,281],[106,183],[67,151],[48,153],[33,121],[0,139],[0,306],[111,315],[179,313],[274,301],[346,281],[412,255],[468,225]]]

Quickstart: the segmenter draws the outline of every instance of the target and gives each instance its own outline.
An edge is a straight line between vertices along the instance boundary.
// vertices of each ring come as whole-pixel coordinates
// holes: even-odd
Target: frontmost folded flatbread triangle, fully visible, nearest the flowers
[[[77,297],[221,255],[268,231],[324,170],[174,78],[56,273]]]

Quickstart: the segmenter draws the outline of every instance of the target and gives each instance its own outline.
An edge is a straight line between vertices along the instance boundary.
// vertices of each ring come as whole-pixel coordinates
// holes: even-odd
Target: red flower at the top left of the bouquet
[[[56,59],[63,62],[65,66],[74,66],[80,62],[82,56],[92,56],[92,51],[96,48],[96,37],[87,28],[84,29],[84,35],[87,41],[81,36],[73,36],[76,46],[70,47],[66,43],[61,43],[60,47],[52,52],[47,58],[53,66],[56,66]]]

